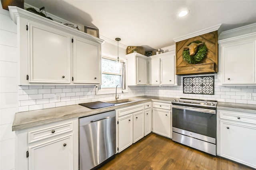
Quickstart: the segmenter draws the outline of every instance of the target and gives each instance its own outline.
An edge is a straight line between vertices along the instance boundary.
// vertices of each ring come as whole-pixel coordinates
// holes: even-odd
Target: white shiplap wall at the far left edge
[[[18,111],[18,55],[16,24],[0,6],[0,169],[14,169],[12,122]]]

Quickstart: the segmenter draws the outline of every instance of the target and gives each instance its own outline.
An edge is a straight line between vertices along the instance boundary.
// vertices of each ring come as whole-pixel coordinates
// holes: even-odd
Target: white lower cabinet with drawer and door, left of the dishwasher
[[[78,170],[78,118],[16,131],[16,170]]]

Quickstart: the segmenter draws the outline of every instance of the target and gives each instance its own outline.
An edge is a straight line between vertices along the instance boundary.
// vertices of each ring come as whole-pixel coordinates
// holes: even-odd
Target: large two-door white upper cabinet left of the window
[[[103,40],[16,6],[9,12],[18,30],[19,85],[100,84]],[[78,72],[81,64],[93,71]]]

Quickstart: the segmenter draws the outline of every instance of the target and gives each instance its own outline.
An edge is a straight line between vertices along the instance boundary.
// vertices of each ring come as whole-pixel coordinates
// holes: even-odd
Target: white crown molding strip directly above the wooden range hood
[[[218,33],[219,33],[220,32],[220,30],[219,30],[220,26],[221,26],[221,24],[218,24],[218,25],[215,25],[215,26],[212,26],[212,27],[208,27],[206,29],[196,31],[194,33],[190,33],[190,34],[184,35],[182,37],[174,38],[173,41],[174,42],[179,42],[179,41],[182,41],[184,39],[189,39],[189,38],[196,37],[198,35],[203,35],[203,34],[206,34],[206,33],[210,33],[212,31],[216,31],[216,30],[218,30]]]

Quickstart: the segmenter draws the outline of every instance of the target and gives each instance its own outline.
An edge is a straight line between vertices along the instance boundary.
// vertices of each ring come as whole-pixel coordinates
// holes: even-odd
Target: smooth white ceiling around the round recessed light
[[[222,31],[256,23],[256,0],[25,0],[65,20],[97,27],[100,35],[145,51],[222,24]],[[182,9],[188,16],[178,18]]]

